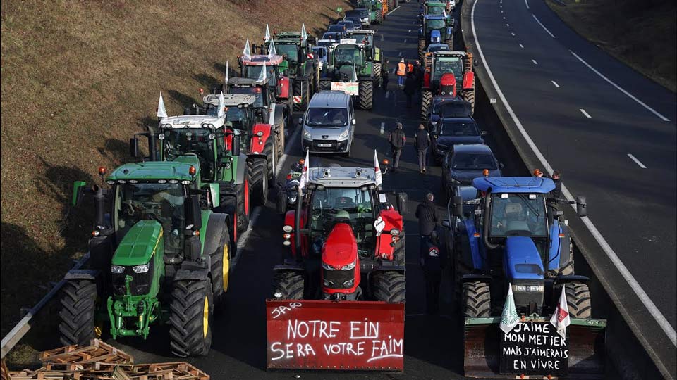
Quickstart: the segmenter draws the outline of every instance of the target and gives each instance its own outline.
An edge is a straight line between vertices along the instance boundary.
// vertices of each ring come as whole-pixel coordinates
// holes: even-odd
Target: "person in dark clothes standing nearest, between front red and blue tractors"
[[[425,277],[425,307],[429,315],[439,312],[439,284],[442,280],[442,270],[446,267],[448,258],[446,249],[442,246],[437,229],[425,238],[421,250],[421,267]]]

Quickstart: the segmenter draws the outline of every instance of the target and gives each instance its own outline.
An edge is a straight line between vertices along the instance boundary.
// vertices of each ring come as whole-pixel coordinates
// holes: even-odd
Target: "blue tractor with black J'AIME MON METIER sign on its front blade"
[[[554,182],[538,177],[480,177],[472,186],[477,198],[463,201],[456,196],[448,208],[454,210],[449,220],[456,220],[448,232],[453,236],[454,294],[465,317],[465,376],[514,378],[567,372],[576,374],[576,379],[585,378],[583,374],[602,376],[606,320],[592,319],[589,279],[574,274],[568,224],[556,208],[575,203],[583,216],[583,198],[573,203],[549,198]],[[464,215],[464,205],[474,206],[474,213],[466,210]],[[518,324],[522,328],[504,334],[499,330],[499,315],[508,290],[514,310],[522,316]],[[561,350],[545,353],[539,349],[551,346],[539,343],[530,351],[531,338],[523,335],[520,340],[513,333],[535,324],[542,334],[552,335],[547,341],[555,341],[559,335],[547,321],[563,293],[571,326],[566,339],[556,342]],[[523,372],[515,373],[511,368],[515,363],[508,358],[520,350],[532,355],[524,354]],[[550,354],[556,356],[549,359],[564,360],[559,365],[566,368],[530,365],[530,360],[537,363]]]

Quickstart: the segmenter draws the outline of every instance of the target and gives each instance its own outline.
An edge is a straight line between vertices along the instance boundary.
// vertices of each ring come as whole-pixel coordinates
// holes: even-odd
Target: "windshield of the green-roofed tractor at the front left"
[[[140,220],[157,220],[164,232],[165,250],[178,253],[183,249],[185,217],[181,184],[136,183],[118,184],[115,188],[114,224],[118,241]]]

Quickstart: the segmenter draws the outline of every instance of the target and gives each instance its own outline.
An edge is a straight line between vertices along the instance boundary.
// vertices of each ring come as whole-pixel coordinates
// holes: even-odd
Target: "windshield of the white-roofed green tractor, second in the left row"
[[[210,139],[211,129],[207,128],[183,128],[165,129],[162,140],[163,156],[173,160],[187,153],[194,153],[200,160],[202,179],[212,179],[214,175],[214,139]]]

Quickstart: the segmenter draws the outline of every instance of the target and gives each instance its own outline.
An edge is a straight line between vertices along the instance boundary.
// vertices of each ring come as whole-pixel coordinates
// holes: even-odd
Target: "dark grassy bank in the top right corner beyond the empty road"
[[[677,2],[547,0],[573,30],[626,65],[677,91]]]

